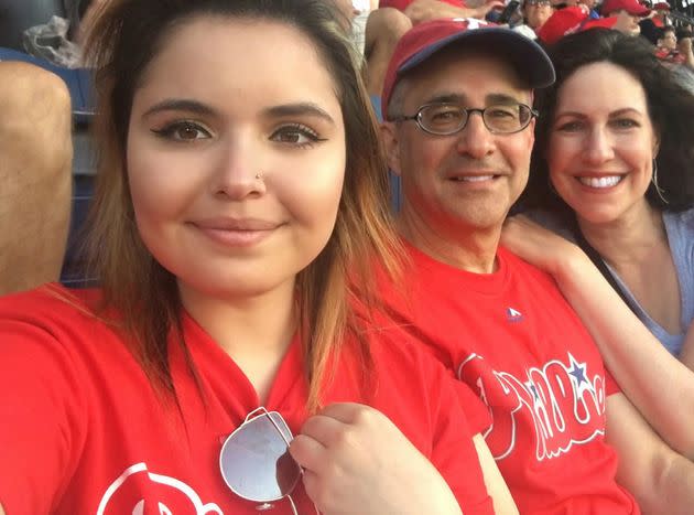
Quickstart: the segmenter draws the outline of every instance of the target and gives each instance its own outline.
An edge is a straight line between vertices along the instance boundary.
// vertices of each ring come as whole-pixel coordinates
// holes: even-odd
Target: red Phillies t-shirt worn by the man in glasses
[[[503,248],[489,275],[408,248],[405,290],[383,285],[389,314],[488,405],[485,438],[520,513],[638,514],[605,442],[618,386],[554,281]]]

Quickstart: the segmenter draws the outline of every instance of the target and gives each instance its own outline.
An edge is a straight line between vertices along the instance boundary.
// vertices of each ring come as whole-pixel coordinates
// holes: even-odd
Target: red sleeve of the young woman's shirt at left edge
[[[0,305],[0,504],[8,515],[51,513],[75,470],[86,417],[65,346]]]

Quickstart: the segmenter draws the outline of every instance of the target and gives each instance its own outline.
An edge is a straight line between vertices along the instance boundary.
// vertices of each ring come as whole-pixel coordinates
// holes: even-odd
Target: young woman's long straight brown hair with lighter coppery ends
[[[375,305],[375,267],[391,277],[401,255],[388,208],[388,180],[378,127],[360,79],[360,58],[344,33],[339,13],[325,0],[111,0],[88,37],[96,69],[99,112],[99,171],[90,213],[88,255],[100,278],[105,305],[119,313],[121,330],[154,386],[175,397],[167,361],[172,331],[188,355],[181,329],[175,277],[143,245],[134,222],[126,171],[129,117],[134,90],[148,65],[177,24],[215,15],[272,20],[310,37],[336,85],[347,146],[347,163],[335,229],[318,257],[297,276],[297,305],[307,406],[321,404],[319,387],[330,356],[354,332],[364,363],[367,336],[351,299]],[[344,20],[343,20],[344,21]],[[214,51],[214,49],[210,49]],[[188,365],[195,373],[189,355]]]

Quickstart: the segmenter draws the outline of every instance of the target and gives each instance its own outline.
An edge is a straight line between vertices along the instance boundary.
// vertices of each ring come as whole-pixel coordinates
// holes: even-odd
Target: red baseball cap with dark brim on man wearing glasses
[[[554,66],[538,43],[510,29],[473,18],[443,18],[418,23],[398,42],[388,65],[381,114],[387,118],[390,97],[408,72],[452,44],[478,45],[481,49],[503,49],[500,56],[521,71],[531,88],[554,83]]]

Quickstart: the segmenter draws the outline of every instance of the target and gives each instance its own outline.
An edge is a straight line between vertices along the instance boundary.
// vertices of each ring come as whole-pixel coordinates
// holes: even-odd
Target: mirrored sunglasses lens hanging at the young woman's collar
[[[225,441],[219,457],[221,476],[240,497],[259,503],[276,501],[291,493],[301,478],[278,428],[292,440],[280,414],[272,411],[245,422]]]

